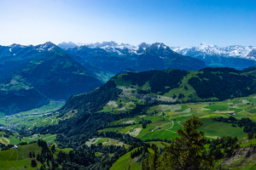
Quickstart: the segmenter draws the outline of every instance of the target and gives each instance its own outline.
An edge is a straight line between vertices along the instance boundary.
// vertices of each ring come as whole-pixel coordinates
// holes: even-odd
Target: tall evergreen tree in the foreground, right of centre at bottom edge
[[[148,162],[143,165],[143,170],[212,168],[213,157],[202,154],[206,153],[206,148],[204,147],[206,138],[204,133],[196,130],[201,125],[202,122],[198,121],[198,117],[195,116],[183,122],[183,127],[177,130],[179,138],[172,139],[172,144],[170,145],[165,144],[166,150],[163,156],[160,156],[157,147],[153,145],[154,156],[151,156],[150,166],[148,166]]]

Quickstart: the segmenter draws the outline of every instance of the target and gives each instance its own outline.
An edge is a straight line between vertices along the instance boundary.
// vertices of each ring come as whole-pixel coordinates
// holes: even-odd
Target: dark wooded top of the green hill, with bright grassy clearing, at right
[[[161,94],[183,100],[224,100],[255,94],[255,67],[243,71],[206,68],[200,71],[128,72],[113,77],[117,86],[136,88],[139,94]]]

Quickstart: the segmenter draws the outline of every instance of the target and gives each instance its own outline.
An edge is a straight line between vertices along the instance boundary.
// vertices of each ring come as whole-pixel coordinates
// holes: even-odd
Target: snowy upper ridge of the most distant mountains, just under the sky
[[[64,47],[63,44],[69,44],[69,47]],[[153,44],[157,44],[164,48],[168,47],[162,42],[156,42]],[[138,46],[133,46],[128,43],[117,43],[117,42],[96,42],[96,43],[74,43],[74,42],[61,42],[58,44],[61,48],[73,48],[73,47],[81,47],[87,46],[90,48],[103,48],[108,52],[115,52],[116,50],[119,51],[120,54],[140,54],[143,53],[143,49],[151,46],[153,44],[149,44],[146,42],[142,42]],[[127,48],[128,50],[124,50]],[[171,48],[174,52],[178,54],[188,55],[188,56],[196,56],[199,54],[209,54],[209,55],[222,55],[224,57],[238,57],[242,59],[254,59],[256,60],[256,56],[254,55],[256,46],[241,46],[241,45],[230,45],[227,47],[219,48],[217,45],[214,44],[207,44],[205,42],[201,42],[200,45],[195,47],[168,47]],[[139,52],[138,52],[139,51]],[[253,52],[254,51],[254,52]],[[123,53],[122,53],[123,52]]]

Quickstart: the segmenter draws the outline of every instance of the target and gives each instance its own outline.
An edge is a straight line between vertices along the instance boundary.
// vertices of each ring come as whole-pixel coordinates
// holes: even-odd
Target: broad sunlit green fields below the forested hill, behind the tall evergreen
[[[256,121],[256,95],[242,97],[237,99],[227,99],[220,102],[198,102],[183,105],[155,105],[150,107],[148,114],[154,113],[154,116],[136,116],[133,118],[124,118],[113,124],[138,123],[145,120],[151,120],[146,128],[140,128],[137,134],[139,139],[173,139],[177,137],[177,129],[181,127],[191,116],[198,116],[203,126],[199,129],[205,133],[208,139],[216,139],[222,136],[237,136],[244,138],[247,133],[243,132],[243,127],[231,127],[230,123],[212,122],[211,118],[217,116],[229,117],[229,113],[236,112],[237,119],[249,117]],[[211,104],[209,104],[211,103]],[[255,106],[253,105],[255,103]],[[131,127],[111,127],[99,130],[98,132],[117,132],[127,133]],[[156,128],[160,127],[160,129]],[[138,127],[135,127],[138,128]]]

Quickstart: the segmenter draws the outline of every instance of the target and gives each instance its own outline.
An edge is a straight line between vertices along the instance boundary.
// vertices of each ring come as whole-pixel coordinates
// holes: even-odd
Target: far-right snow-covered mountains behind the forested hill
[[[189,48],[172,47],[172,50],[178,54],[201,59],[206,62],[207,66],[230,67],[242,70],[248,66],[256,65],[256,55],[253,53],[255,48],[253,46],[240,45],[218,48],[213,44],[201,43],[199,46]]]

